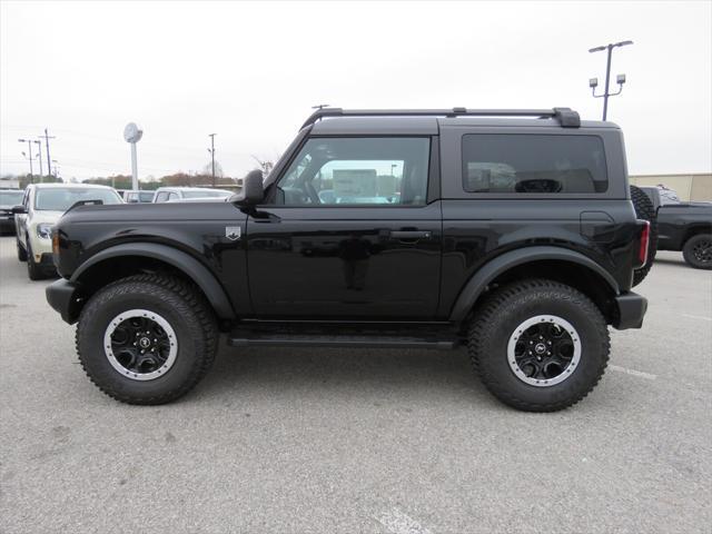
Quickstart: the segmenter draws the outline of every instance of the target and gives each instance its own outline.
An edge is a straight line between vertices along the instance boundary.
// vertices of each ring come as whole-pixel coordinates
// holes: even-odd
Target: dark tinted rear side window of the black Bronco
[[[604,192],[603,141],[596,136],[469,134],[463,136],[463,187],[492,194]]]

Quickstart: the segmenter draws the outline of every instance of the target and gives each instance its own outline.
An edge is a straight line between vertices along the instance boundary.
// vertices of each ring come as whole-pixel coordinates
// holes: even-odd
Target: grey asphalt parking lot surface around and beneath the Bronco
[[[0,239],[0,532],[693,533],[712,524],[712,273],[661,253],[582,403],[524,414],[464,350],[222,347],[119,404]]]

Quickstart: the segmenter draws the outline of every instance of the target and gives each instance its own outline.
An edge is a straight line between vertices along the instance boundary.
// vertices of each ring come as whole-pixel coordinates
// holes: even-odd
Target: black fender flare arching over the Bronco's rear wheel
[[[467,316],[474,304],[477,301],[479,295],[482,295],[482,293],[486,289],[487,285],[505,270],[516,267],[517,265],[528,264],[530,261],[540,261],[544,259],[571,261],[586,267],[596,275],[601,276],[601,278],[603,278],[609,284],[615,295],[619,295],[621,293],[615,278],[613,278],[613,276],[611,276],[607,270],[605,270],[594,260],[587,258],[581,253],[562,247],[526,247],[505,253],[482,266],[465,284],[465,287],[463,287],[463,289],[459,291],[457,300],[455,300],[455,305],[452,308],[449,320],[456,323],[462,322]]]

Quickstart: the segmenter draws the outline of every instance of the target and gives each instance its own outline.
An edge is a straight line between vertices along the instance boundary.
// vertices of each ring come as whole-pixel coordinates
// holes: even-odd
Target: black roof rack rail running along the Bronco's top
[[[563,128],[578,128],[581,117],[578,112],[571,108],[553,109],[342,109],[322,108],[317,109],[306,120],[301,128],[314,125],[325,117],[540,117],[553,118]]]

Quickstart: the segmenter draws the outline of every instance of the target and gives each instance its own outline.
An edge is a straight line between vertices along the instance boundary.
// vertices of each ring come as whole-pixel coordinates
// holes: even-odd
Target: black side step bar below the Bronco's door
[[[356,348],[436,348],[449,350],[459,345],[457,337],[409,337],[389,335],[305,335],[234,330],[227,339],[233,347],[356,347]]]

